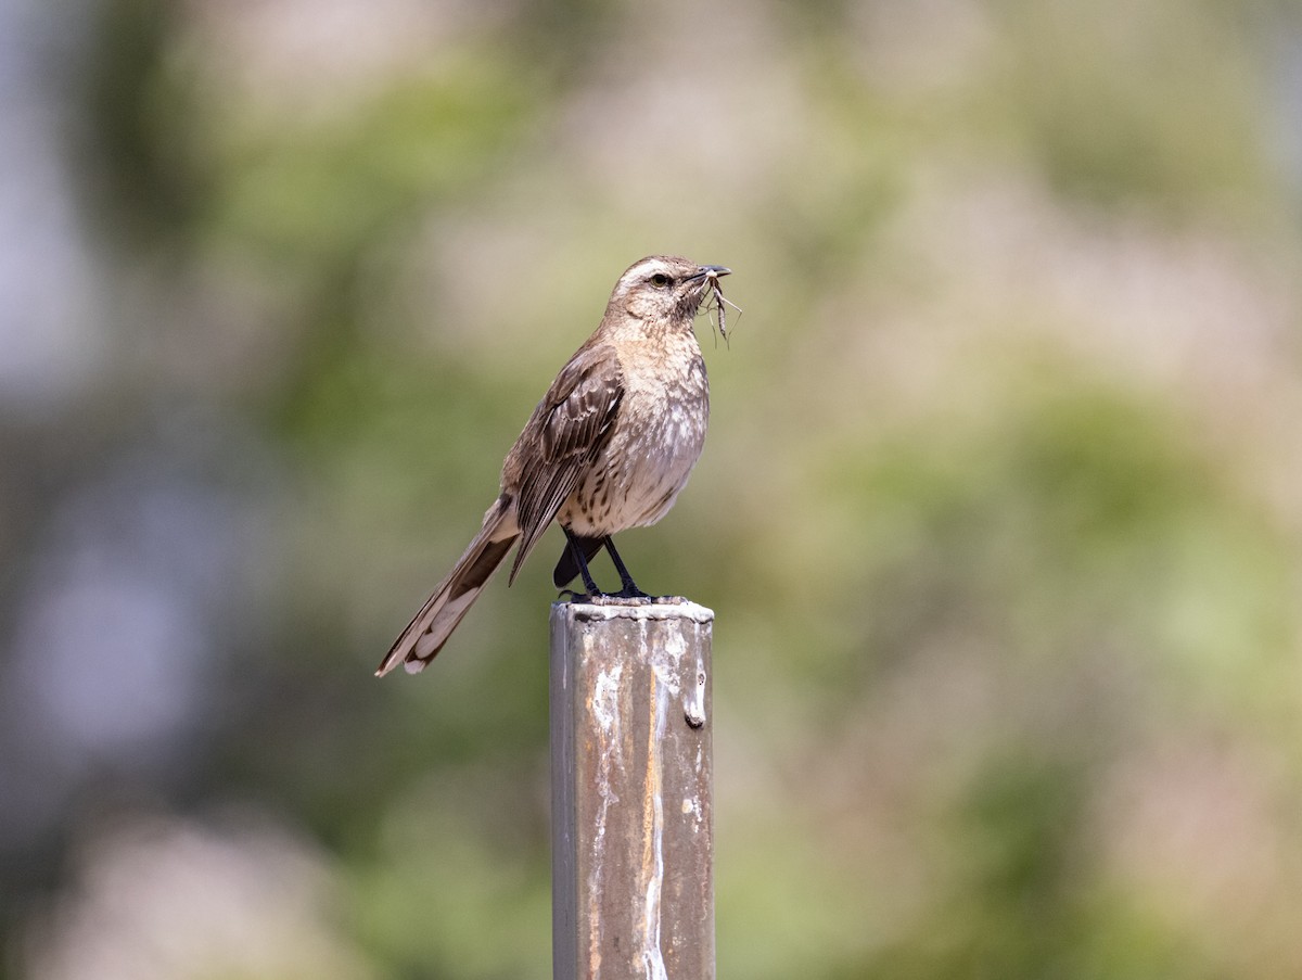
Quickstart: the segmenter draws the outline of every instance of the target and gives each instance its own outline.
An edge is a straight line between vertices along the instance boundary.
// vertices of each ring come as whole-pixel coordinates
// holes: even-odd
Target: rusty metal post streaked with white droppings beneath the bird
[[[555,980],[715,976],[713,619],[552,606]]]

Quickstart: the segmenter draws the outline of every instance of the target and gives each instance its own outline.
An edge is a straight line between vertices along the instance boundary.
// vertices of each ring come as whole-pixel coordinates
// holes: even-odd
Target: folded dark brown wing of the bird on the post
[[[611,435],[624,399],[624,371],[609,344],[585,347],[561,369],[508,457],[504,482],[518,482],[519,549],[510,581]],[[516,480],[510,480],[514,476]]]

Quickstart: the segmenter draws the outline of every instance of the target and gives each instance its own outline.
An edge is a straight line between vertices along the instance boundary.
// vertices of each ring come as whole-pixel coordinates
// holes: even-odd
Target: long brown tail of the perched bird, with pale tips
[[[421,611],[393,641],[375,676],[383,678],[398,661],[405,661],[408,674],[419,674],[432,661],[457,628],[457,623],[479,597],[480,589],[497,571],[501,559],[519,537],[516,508],[499,498],[484,515],[484,524],[475,540],[457,559],[448,577],[439,583]]]

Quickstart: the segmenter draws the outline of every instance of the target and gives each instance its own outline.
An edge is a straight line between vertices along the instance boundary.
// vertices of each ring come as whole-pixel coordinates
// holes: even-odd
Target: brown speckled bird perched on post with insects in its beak
[[[413,616],[375,671],[418,674],[443,649],[490,577],[516,547],[508,584],[555,520],[565,550],[557,589],[575,576],[594,598],[647,601],[612,536],[659,521],[700,457],[710,382],[693,321],[732,270],[677,255],[634,262],[611,291],[592,335],[561,368],[501,468],[479,533]],[[620,590],[589,569],[605,549]],[[564,594],[564,593],[562,593]]]

